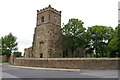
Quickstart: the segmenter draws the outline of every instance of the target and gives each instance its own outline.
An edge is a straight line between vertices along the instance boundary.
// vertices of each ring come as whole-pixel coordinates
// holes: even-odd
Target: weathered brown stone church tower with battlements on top
[[[57,11],[50,5],[40,11],[37,10],[37,23],[32,44],[31,57],[63,57],[61,11]]]

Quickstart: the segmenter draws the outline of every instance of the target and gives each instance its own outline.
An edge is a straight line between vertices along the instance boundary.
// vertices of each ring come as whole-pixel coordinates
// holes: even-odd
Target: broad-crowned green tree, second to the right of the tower
[[[89,27],[87,33],[91,36],[90,48],[96,53],[96,57],[107,57],[107,46],[112,38],[113,29],[106,26]]]

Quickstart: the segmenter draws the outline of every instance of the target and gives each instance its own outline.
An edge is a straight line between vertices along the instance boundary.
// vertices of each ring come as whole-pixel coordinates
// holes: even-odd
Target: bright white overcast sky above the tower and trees
[[[111,26],[118,24],[119,0],[1,0],[0,37],[10,32],[17,37],[18,49],[32,46],[37,10],[49,4],[62,11],[61,24],[71,18],[84,22],[84,27],[94,25]],[[120,17],[119,17],[120,19]]]

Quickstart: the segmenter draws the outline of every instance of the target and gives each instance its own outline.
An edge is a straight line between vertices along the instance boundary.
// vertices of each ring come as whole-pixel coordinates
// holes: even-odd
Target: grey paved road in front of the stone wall
[[[1,64],[2,63],[0,63],[0,65]],[[118,78],[118,70],[62,71],[45,69],[20,69],[11,67],[9,63],[3,63],[1,67],[2,69],[0,70],[2,71],[2,78],[102,78],[105,80],[107,80],[107,78]]]

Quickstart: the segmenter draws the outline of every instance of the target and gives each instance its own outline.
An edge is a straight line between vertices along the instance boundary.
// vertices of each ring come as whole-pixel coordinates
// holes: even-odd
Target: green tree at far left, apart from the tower
[[[18,43],[16,42],[16,37],[9,33],[1,38],[2,40],[2,55],[10,55],[13,51],[16,51]]]

